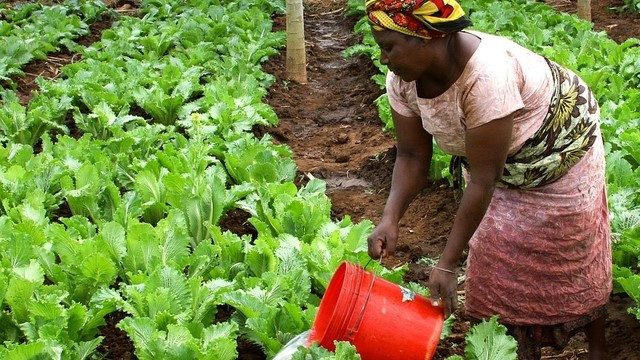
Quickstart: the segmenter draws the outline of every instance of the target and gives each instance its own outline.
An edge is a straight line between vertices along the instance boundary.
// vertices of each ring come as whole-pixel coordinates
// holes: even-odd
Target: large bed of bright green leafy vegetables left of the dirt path
[[[325,184],[296,186],[289,149],[251,131],[277,122],[260,67],[282,7],[143,1],[27,105],[2,91],[1,358],[101,358],[116,311],[140,359],[235,359],[239,339],[271,357],[339,263],[368,260],[372,224],[332,221]],[[256,236],[220,227],[239,213]]]

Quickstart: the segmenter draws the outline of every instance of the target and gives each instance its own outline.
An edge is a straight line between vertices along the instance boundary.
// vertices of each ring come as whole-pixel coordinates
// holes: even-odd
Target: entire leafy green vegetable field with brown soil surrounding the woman
[[[492,6],[476,3],[477,16]],[[284,2],[0,4],[0,358],[267,359],[310,327],[338,264],[368,260],[395,156],[366,36],[344,56],[363,40],[353,4],[306,2],[306,85],[283,76]],[[523,9],[499,24],[524,26],[536,12]],[[548,49],[550,32],[522,33]],[[600,36],[580,34],[596,49]],[[600,69],[588,80],[608,96],[618,281],[607,339],[614,359],[636,359],[640,116],[628,89],[640,66],[637,43],[607,46],[563,59]],[[589,60],[603,58],[613,63]],[[396,256],[369,269],[424,292],[455,209],[447,181],[432,182]],[[437,359],[464,355],[463,311],[451,326]],[[585,349],[576,337],[545,356]],[[357,356],[341,344],[298,358]]]

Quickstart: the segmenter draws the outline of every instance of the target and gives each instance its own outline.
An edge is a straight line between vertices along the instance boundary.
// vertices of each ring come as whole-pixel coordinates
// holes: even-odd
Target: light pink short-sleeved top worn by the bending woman
[[[509,155],[542,125],[553,91],[545,59],[515,42],[468,31],[481,39],[462,74],[442,95],[418,97],[416,82],[405,82],[391,71],[387,94],[400,115],[422,118],[422,126],[438,146],[465,156],[464,132],[515,113]]]

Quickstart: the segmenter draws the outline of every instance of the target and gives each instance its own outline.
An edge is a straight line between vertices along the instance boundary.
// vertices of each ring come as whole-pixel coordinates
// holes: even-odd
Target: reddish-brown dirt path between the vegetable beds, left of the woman
[[[279,79],[267,102],[278,113],[280,125],[269,133],[291,147],[302,174],[327,181],[335,218],[349,215],[354,221],[376,221],[395,160],[395,140],[381,131],[373,103],[382,94],[369,80],[376,69],[365,57],[342,56],[360,41],[351,32],[355,19],[344,17],[342,1],[310,1],[308,11],[308,84],[282,80],[284,52],[266,66]],[[276,26],[283,29],[283,21],[276,19]],[[405,245],[389,265],[418,260],[416,254],[434,256],[441,250],[440,240],[448,233],[455,211],[452,199],[452,192],[442,184],[431,184],[416,199],[401,223]],[[424,240],[434,246],[421,244]],[[421,251],[415,251],[415,246]]]

